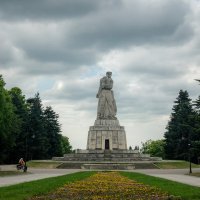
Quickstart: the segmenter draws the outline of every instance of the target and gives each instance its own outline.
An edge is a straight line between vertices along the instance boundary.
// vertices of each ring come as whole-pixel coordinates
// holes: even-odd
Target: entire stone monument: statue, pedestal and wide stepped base
[[[64,165],[66,168],[71,167],[73,162],[80,169],[133,170],[136,166],[135,161],[146,162],[155,159],[139,153],[138,147],[134,150],[127,149],[124,126],[121,126],[116,118],[117,107],[111,76],[112,72],[107,72],[106,76],[100,79],[97,119],[94,125],[89,127],[87,149],[77,149],[64,157],[54,157],[57,161],[67,161]]]

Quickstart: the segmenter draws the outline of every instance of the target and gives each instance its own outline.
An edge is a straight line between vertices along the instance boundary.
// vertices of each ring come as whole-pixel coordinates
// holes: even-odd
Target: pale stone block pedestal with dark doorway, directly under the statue
[[[96,120],[88,132],[88,150],[125,150],[126,133],[116,120]]]

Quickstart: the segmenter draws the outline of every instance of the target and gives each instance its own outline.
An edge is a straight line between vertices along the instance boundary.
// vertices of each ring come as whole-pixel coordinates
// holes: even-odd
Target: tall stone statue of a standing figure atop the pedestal
[[[96,95],[99,98],[97,108],[97,119],[115,120],[117,106],[113,93],[112,72],[107,72],[106,76],[100,79],[99,91]]]

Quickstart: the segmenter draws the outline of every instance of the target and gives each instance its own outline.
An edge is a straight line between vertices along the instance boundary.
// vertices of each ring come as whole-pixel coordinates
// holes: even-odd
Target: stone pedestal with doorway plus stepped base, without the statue
[[[155,168],[153,162],[162,159],[127,150],[126,133],[119,121],[97,119],[90,126],[86,150],[77,149],[53,160],[63,162],[60,168],[132,170]]]

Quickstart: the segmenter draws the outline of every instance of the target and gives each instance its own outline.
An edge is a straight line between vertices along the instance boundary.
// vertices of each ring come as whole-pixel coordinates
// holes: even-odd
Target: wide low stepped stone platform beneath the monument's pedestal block
[[[62,161],[60,168],[78,169],[138,169],[155,168],[153,163],[162,158],[141,154],[138,150],[80,150],[65,154],[64,157],[53,157]]]

